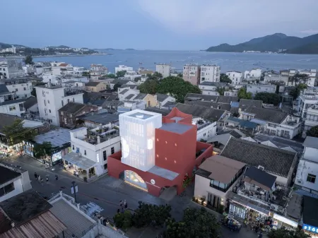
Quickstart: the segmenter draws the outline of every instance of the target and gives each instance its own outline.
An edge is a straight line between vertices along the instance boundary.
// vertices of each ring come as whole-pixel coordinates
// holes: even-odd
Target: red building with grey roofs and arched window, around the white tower
[[[143,116],[147,119],[151,117],[148,114],[150,112],[135,111],[139,111],[139,115],[136,115],[136,119],[134,118],[135,121]],[[127,114],[132,112],[127,112]],[[154,113],[151,114],[154,115]],[[119,115],[119,122],[122,115],[124,114]],[[120,123],[119,126],[121,129],[133,128]],[[149,130],[147,127],[147,134],[151,134]],[[155,130],[155,161],[150,169],[144,171],[145,169],[141,170],[136,166],[126,165],[122,162],[122,151],[119,151],[107,158],[108,173],[116,178],[124,176],[126,182],[138,186],[154,196],[160,196],[168,188],[175,188],[177,194],[180,194],[184,191],[184,179],[192,178],[194,170],[201,165],[202,160],[211,157],[213,147],[210,144],[196,141],[196,125],[192,124],[192,115],[184,114],[177,108],[172,109],[170,114],[162,117],[161,126],[153,128],[153,130]],[[149,145],[151,141],[152,139],[148,139],[149,149],[153,148],[152,145]],[[122,144],[124,143],[126,144],[126,140],[122,137]]]

